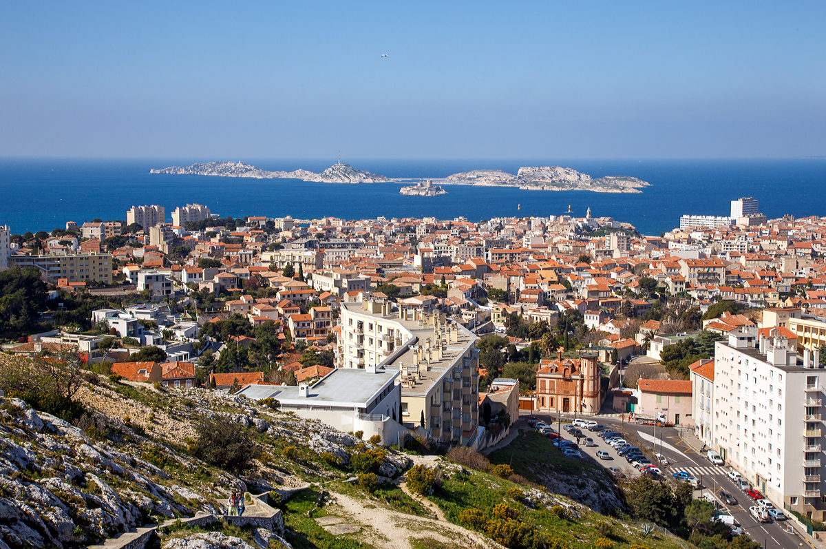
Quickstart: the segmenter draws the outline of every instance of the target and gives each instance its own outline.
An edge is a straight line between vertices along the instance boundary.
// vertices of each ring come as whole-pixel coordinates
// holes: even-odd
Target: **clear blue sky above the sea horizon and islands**
[[[2,2],[0,155],[826,155],[824,45],[826,2]]]

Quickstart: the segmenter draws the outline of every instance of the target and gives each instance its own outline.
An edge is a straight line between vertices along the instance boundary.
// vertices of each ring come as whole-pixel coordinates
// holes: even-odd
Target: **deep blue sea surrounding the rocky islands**
[[[241,160],[261,169],[320,172],[331,160]],[[789,160],[346,160],[358,169],[392,178],[443,178],[469,169],[561,165],[590,174],[627,175],[652,186],[638,194],[525,191],[450,185],[447,194],[399,194],[400,184],[324,184],[296,179],[246,179],[150,174],[152,168],[191,165],[204,159],[66,160],[0,159],[0,225],[12,232],[51,231],[67,221],[126,219],[133,205],[160,204],[167,220],[186,203],[206,204],[225,217],[247,215],[344,219],[545,217],[571,211],[629,222],[643,234],[668,231],[683,214],[729,215],[730,201],[757,198],[769,218],[826,215],[826,159]]]

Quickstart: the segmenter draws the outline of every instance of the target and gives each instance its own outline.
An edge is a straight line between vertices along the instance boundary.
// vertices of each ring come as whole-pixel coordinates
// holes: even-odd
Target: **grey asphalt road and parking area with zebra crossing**
[[[542,415],[537,415],[535,417],[543,418],[546,422],[550,421],[549,416],[543,417]],[[652,451],[654,446],[653,426],[643,426],[634,423],[624,423],[623,425],[623,422],[621,422],[619,418],[597,416],[593,419],[601,422],[607,427],[615,429],[616,431],[621,431],[622,429],[618,427],[623,426],[624,429],[632,432],[636,437],[642,440],[643,443],[648,444],[648,448],[646,449],[648,450],[648,454],[654,453]],[[555,425],[554,428],[556,428]],[[598,436],[599,433],[586,433],[588,432],[582,432],[583,435],[586,437],[591,437],[597,444],[597,446],[585,446],[584,439],[582,440],[580,448],[588,456],[591,456],[592,459],[606,468],[619,467],[619,469],[623,470],[626,475],[639,475],[638,471],[634,470],[634,468],[625,461],[624,457],[617,456],[616,451],[602,441],[602,439]],[[563,432],[563,437],[570,438],[566,432]],[[764,524],[758,523],[754,518],[752,518],[752,515],[748,513],[748,508],[752,506],[754,502],[748,497],[747,494],[736,488],[733,482],[729,480],[729,477],[726,476],[729,468],[712,465],[710,461],[705,459],[704,456],[700,456],[700,454],[695,451],[695,449],[692,448],[688,442],[683,440],[681,433],[677,429],[673,427],[657,427],[656,443],[656,451],[658,453],[662,453],[662,455],[666,456],[668,460],[668,465],[662,471],[663,475],[670,477],[672,473],[684,470],[687,473],[699,478],[701,489],[695,490],[695,498],[699,498],[701,494],[706,492],[717,494],[720,490],[724,490],[725,492],[732,494],[734,498],[737,499],[738,504],[721,504],[721,510],[727,511],[731,514],[734,517],[734,520],[737,521],[743,530],[755,541],[765,543],[765,549],[790,549],[791,547],[800,547],[799,544],[801,542],[804,544],[802,547],[813,547],[814,549],[819,549],[811,545],[804,537],[786,532],[785,528],[788,528],[787,523],[790,521]],[[607,450],[613,459],[607,461],[598,459],[596,457],[596,451],[599,450]],[[663,468],[662,465],[659,466]],[[782,505],[779,507],[782,508]]]

